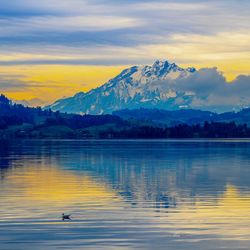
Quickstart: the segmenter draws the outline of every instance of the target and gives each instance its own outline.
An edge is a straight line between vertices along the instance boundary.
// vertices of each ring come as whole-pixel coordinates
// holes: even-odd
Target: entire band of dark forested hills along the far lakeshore
[[[74,115],[13,104],[1,95],[0,139],[250,138],[249,114],[249,110],[221,115],[126,110],[115,115]]]

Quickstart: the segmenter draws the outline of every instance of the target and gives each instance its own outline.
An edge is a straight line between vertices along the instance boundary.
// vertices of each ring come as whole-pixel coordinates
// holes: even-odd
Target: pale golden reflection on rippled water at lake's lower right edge
[[[214,234],[221,237],[250,239],[250,195],[228,185],[218,197],[196,197],[182,202],[176,213],[168,213],[173,228],[185,233]],[[169,227],[168,225],[164,225]]]

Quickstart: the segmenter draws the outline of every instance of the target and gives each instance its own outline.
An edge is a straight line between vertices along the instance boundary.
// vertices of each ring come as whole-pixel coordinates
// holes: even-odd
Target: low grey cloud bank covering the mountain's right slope
[[[203,68],[176,81],[174,88],[194,97],[192,108],[223,112],[250,106],[250,75],[240,75],[228,82],[216,68]]]

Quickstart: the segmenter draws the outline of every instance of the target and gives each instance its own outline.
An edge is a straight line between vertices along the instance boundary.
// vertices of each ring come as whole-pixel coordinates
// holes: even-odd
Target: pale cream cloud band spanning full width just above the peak
[[[130,39],[126,35],[123,38]],[[74,45],[2,44],[0,64],[133,65],[149,64],[159,58],[198,68],[218,66],[227,75],[230,74],[231,79],[241,73],[250,73],[250,34],[247,31],[215,35],[174,34],[168,39],[144,35],[143,40],[149,40],[151,44],[110,45],[104,37],[103,44],[88,44],[89,41]]]

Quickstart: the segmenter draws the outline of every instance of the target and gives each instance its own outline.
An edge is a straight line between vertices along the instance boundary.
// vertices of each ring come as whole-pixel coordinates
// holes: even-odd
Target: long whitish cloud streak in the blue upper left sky
[[[136,18],[119,16],[41,16],[0,19],[0,36],[24,36],[39,32],[77,32],[124,29],[142,25]]]

